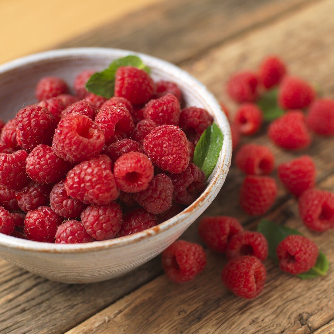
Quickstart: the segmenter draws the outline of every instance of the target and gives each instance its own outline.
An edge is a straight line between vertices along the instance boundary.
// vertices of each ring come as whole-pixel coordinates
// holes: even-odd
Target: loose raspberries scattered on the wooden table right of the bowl
[[[231,122],[234,150],[240,134],[250,136],[259,131],[263,114],[255,102],[270,89],[278,89],[277,104],[285,110],[269,124],[268,136],[276,145],[296,152],[310,145],[311,131],[334,135],[334,101],[317,98],[311,85],[287,74],[278,57],[266,58],[257,73],[234,74],[226,88],[240,104]],[[228,116],[224,105],[222,109]],[[240,188],[240,207],[248,215],[264,215],[277,197],[277,183],[268,176],[275,167],[274,154],[266,146],[247,143],[236,152],[234,163],[246,175]],[[316,169],[310,156],[284,162],[277,172],[284,187],[298,200],[300,218],[309,229],[323,232],[334,227],[334,194],[314,189]],[[225,287],[243,298],[258,296],[267,275],[262,263],[268,255],[266,238],[259,232],[244,231],[238,220],[229,216],[203,218],[198,231],[207,247],[225,253],[229,259],[221,272]],[[276,254],[283,271],[300,274],[315,265],[319,250],[312,240],[289,235],[279,243]],[[179,240],[163,252],[162,264],[172,281],[190,281],[205,267],[205,251],[198,244]]]

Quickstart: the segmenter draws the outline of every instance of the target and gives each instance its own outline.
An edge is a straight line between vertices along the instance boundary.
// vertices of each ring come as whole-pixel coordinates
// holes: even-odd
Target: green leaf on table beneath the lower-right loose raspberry
[[[288,235],[299,234],[302,235],[297,230],[289,228],[287,226],[275,224],[269,220],[263,219],[258,225],[258,232],[262,233],[268,241],[268,253],[271,258],[278,262],[276,255],[276,248],[278,244],[284,240]],[[324,276],[327,274],[329,269],[329,261],[323,252],[319,252],[319,256],[316,264],[306,272],[298,274],[302,280],[311,279],[317,276]]]

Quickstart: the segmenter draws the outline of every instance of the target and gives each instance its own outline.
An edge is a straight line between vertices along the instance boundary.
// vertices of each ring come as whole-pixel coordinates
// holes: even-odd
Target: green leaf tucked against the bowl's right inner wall
[[[212,123],[198,140],[194,163],[205,173],[206,179],[216,166],[222,144],[223,134],[215,123]]]

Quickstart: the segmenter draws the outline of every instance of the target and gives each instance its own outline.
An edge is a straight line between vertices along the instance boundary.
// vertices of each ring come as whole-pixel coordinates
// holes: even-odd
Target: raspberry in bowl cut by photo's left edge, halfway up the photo
[[[0,183],[6,188],[19,189],[28,182],[25,171],[27,152],[0,153]]]

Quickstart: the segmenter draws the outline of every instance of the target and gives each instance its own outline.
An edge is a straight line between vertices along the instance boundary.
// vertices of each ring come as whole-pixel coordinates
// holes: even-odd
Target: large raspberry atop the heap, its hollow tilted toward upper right
[[[58,123],[52,148],[64,160],[79,162],[98,155],[105,143],[103,131],[80,114],[67,115]]]

